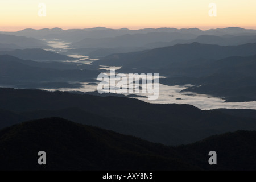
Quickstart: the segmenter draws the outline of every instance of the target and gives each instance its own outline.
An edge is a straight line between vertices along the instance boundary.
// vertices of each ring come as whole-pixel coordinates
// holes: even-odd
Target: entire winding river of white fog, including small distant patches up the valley
[[[65,43],[61,40],[51,40],[48,41],[48,44],[55,49],[69,49],[69,43]],[[75,60],[80,64],[90,64],[94,59],[89,59],[89,56],[82,55],[68,55],[71,57],[77,58]],[[102,72],[105,72],[110,76],[110,69],[115,69],[118,72],[118,69],[121,67],[106,67],[101,65]],[[69,88],[61,88],[60,91],[80,91],[80,92],[92,92],[96,91],[99,82],[83,82],[81,83],[81,88],[77,89],[69,89]],[[147,93],[138,93],[140,96],[146,97],[136,97],[139,100],[143,100],[145,102],[150,103],[158,103],[158,104],[190,104],[194,105],[200,109],[209,110],[209,109],[217,109],[217,108],[228,108],[228,109],[256,109],[256,101],[253,102],[224,102],[222,98],[217,98],[205,94],[196,94],[192,92],[180,92],[181,90],[188,88],[191,85],[176,85],[176,86],[168,86],[159,84],[159,96],[156,100],[148,100]],[[54,89],[46,89],[53,91]],[[152,94],[151,94],[152,95]]]

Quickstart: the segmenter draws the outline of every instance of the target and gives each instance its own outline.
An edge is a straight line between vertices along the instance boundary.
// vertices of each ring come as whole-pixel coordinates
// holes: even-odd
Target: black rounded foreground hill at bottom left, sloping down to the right
[[[39,166],[38,151],[47,154]],[[24,122],[0,131],[0,169],[196,169],[165,155],[170,148],[61,118]]]

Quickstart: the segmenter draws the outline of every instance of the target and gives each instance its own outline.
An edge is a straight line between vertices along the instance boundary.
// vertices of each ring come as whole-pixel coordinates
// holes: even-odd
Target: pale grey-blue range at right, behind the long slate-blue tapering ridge
[[[197,35],[196,35],[197,36]],[[177,32],[151,32],[147,34],[127,34],[115,38],[86,38],[71,45],[73,49],[67,53],[79,53],[88,56],[108,56],[114,53],[144,51],[147,49],[174,46],[176,44],[216,44],[219,46],[237,46],[246,43],[256,43],[256,35],[199,35],[181,34]],[[178,38],[181,39],[178,39]],[[196,37],[188,39],[189,37]],[[162,40],[162,41],[161,41]],[[171,42],[167,41],[172,40]],[[81,48],[82,47],[82,48]]]

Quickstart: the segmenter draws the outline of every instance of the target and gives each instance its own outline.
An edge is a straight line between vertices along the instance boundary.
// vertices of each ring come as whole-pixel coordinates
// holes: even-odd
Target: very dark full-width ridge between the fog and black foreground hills
[[[255,117],[246,113],[236,116],[126,97],[1,88],[0,108],[2,128],[29,119],[61,117],[163,144],[186,144],[228,131],[256,130]],[[255,115],[254,110],[251,115]]]

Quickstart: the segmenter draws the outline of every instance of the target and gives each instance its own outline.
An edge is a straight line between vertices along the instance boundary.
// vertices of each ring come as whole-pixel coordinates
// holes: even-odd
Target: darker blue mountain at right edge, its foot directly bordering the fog
[[[156,69],[167,78],[159,82],[167,85],[192,84],[183,92],[196,92],[221,97],[226,102],[256,100],[256,55],[232,56],[221,60],[191,60],[173,67]]]

